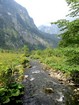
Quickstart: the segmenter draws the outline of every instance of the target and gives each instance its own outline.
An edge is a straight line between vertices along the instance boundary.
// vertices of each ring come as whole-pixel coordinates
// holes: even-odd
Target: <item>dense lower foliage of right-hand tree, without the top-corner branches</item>
[[[78,47],[79,46],[79,19],[72,22],[66,20],[59,20],[56,24],[61,27],[62,40],[60,41],[61,47]]]

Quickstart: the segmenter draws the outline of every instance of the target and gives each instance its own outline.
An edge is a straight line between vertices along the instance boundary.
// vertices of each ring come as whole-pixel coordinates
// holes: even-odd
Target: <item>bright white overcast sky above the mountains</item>
[[[36,26],[48,25],[50,22],[65,18],[68,6],[65,0],[15,0],[24,6]]]

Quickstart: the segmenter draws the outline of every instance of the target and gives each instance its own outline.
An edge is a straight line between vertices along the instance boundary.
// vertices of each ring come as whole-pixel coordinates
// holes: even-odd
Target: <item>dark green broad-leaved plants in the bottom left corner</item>
[[[0,104],[7,104],[12,100],[14,100],[16,104],[16,98],[23,95],[23,85],[16,82],[9,85],[10,86],[0,88]]]

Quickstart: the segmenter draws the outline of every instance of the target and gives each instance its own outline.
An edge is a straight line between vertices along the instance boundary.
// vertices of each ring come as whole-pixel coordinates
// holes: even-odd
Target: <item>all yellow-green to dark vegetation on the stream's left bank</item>
[[[23,54],[0,52],[0,105],[21,103],[23,63],[28,63]]]

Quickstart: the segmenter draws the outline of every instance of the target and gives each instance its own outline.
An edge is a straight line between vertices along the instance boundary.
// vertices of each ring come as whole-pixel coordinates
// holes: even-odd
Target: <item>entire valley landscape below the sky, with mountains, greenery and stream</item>
[[[79,2],[67,3],[76,16]],[[78,104],[79,18],[37,27],[26,8],[0,0],[0,105]]]

